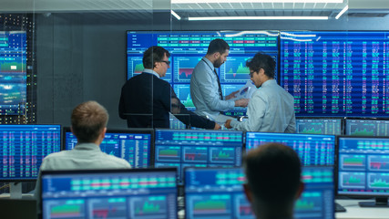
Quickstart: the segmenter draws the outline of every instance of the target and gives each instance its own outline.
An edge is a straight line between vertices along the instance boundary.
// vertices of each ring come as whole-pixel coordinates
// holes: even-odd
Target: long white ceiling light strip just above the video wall
[[[188,20],[328,20],[328,16],[192,16]]]

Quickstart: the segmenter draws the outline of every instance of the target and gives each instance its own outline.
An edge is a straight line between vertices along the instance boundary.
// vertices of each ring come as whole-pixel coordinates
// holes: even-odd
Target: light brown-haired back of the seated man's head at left
[[[87,101],[72,111],[71,122],[78,142],[94,142],[107,126],[108,112],[96,101]]]

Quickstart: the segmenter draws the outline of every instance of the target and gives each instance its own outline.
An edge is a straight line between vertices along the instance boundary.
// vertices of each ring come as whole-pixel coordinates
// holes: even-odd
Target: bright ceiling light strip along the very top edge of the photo
[[[171,4],[199,3],[343,3],[343,0],[171,0]]]

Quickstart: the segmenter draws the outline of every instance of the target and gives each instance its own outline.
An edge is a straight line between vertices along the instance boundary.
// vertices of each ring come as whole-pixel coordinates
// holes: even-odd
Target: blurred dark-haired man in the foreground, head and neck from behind
[[[243,166],[244,193],[256,217],[292,219],[294,203],[304,188],[297,153],[281,143],[268,143],[249,151]]]

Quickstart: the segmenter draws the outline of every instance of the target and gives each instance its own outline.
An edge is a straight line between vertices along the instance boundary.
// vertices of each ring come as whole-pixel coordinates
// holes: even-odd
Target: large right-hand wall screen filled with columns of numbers
[[[281,32],[281,86],[300,116],[389,114],[385,32]]]

